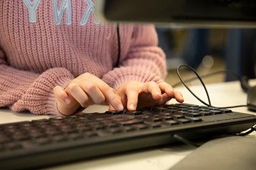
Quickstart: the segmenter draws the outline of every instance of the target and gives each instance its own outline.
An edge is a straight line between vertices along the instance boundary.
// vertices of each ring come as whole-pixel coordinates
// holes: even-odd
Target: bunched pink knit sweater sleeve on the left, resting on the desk
[[[65,87],[73,75],[65,68],[48,69],[42,74],[20,71],[8,66],[0,50],[0,107],[31,111],[38,115],[60,115],[53,89]]]

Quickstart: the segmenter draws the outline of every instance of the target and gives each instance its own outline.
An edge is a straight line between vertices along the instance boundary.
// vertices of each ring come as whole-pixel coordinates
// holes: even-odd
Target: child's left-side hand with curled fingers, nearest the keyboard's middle
[[[79,107],[92,104],[111,104],[115,110],[124,110],[120,97],[104,81],[90,73],[84,73],[71,81],[65,89],[54,88],[57,108],[63,115],[72,115]]]

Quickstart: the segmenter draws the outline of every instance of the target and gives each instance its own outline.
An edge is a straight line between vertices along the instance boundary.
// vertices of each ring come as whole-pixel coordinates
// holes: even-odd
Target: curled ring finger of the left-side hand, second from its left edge
[[[86,95],[86,93],[76,85],[75,83],[70,83],[65,91],[70,94],[70,96],[74,97],[74,99],[83,107],[86,108],[90,105],[90,99]]]

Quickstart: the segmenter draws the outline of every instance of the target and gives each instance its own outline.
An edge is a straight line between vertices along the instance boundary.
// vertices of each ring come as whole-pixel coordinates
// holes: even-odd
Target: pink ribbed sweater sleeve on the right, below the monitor
[[[118,88],[127,81],[163,81],[166,76],[166,59],[163,50],[157,46],[154,26],[134,26],[129,52],[122,59],[120,67],[103,76],[111,87]]]

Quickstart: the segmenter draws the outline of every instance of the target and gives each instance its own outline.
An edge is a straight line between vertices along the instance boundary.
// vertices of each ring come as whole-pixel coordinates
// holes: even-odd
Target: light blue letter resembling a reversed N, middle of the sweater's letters
[[[58,10],[58,0],[53,1],[53,13],[54,13],[54,22],[56,25],[61,24],[61,19],[63,17],[64,11],[67,11],[67,25],[72,24],[72,6],[70,0],[61,1],[60,10]]]

